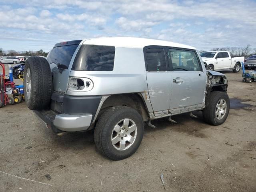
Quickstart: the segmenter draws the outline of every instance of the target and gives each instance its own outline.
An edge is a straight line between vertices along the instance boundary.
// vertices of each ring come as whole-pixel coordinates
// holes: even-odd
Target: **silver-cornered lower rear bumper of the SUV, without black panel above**
[[[75,132],[87,130],[92,122],[92,114],[57,114],[53,110],[34,111],[35,116],[54,132]]]

